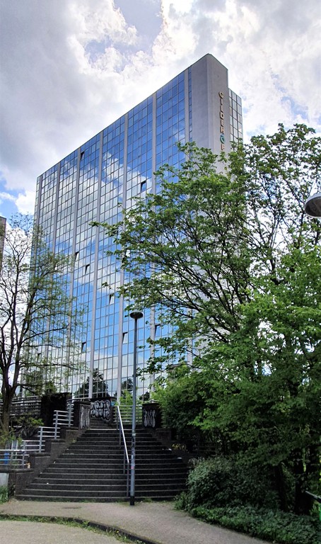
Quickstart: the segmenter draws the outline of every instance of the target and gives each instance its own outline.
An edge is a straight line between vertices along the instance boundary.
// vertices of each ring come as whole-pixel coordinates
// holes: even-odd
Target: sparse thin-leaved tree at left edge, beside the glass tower
[[[61,350],[62,336],[76,327],[66,288],[70,269],[69,257],[55,255],[48,249],[42,233],[33,228],[32,217],[17,215],[7,224],[0,273],[0,428],[3,435],[8,433],[11,404],[17,391],[25,387],[39,392],[47,380],[49,362],[37,355],[41,348]],[[74,353],[74,357],[66,358],[61,364],[68,372],[77,361]],[[36,375],[40,384],[29,379]]]

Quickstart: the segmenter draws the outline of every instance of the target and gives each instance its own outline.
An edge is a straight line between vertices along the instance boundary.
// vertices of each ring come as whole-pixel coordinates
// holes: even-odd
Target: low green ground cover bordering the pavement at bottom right
[[[308,516],[296,516],[281,511],[256,509],[253,506],[206,508],[197,506],[190,514],[207,523],[247,533],[279,544],[320,543],[320,522]]]

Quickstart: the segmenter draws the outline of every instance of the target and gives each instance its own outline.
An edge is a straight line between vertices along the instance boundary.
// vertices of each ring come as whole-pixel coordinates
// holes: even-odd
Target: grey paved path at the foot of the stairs
[[[19,516],[18,521],[10,516]],[[45,523],[33,521],[42,517]],[[59,519],[60,523],[48,523]],[[10,544],[119,544],[113,534],[89,531],[68,523],[87,522],[104,531],[118,531],[146,544],[267,544],[219,526],[209,525],[177,511],[172,502],[38,502],[0,504],[0,543]],[[31,521],[33,521],[31,523]],[[114,533],[115,534],[115,533]]]

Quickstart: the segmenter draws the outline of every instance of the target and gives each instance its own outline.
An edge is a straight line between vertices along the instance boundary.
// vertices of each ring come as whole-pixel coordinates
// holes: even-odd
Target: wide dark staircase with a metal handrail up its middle
[[[127,447],[131,431],[125,429]],[[49,465],[21,500],[115,502],[127,500],[124,454],[117,429],[96,421]],[[187,467],[145,429],[136,429],[135,498],[170,500],[185,489]]]

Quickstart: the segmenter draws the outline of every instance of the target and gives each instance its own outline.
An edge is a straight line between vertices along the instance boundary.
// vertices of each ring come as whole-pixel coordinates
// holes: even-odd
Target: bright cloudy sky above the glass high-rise
[[[0,0],[0,215],[37,176],[211,53],[245,141],[321,132],[320,0]]]

